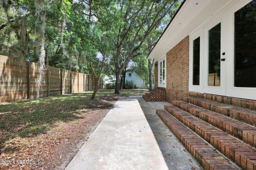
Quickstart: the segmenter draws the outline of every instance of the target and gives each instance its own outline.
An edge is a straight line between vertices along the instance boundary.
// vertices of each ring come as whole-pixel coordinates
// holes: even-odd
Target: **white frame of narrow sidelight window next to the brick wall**
[[[193,41],[200,37],[200,73],[199,73],[199,85],[193,85]],[[203,52],[204,52],[204,31],[199,29],[193,35],[189,36],[189,91],[203,93],[203,83],[204,83],[204,64],[203,64]]]

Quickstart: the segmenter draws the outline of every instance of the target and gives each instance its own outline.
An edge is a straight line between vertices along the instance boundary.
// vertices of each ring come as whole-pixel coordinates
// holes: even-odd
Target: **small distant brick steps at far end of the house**
[[[166,101],[164,88],[157,88],[142,96],[145,101]]]

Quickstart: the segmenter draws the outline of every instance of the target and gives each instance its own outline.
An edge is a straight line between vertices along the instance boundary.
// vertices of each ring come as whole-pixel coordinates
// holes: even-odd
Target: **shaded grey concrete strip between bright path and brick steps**
[[[172,131],[165,125],[165,123],[156,114],[156,109],[163,109],[167,105],[166,101],[151,101],[146,102],[143,98],[137,98],[142,111],[147,118],[148,124],[154,133],[155,139],[166,165],[169,169],[179,170],[199,170],[202,167],[197,163],[194,157],[186,150]]]

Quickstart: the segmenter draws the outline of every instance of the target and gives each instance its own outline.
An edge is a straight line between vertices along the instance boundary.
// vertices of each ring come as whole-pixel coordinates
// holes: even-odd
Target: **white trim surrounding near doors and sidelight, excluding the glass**
[[[256,100],[256,88],[234,87],[234,13],[251,1],[229,1],[212,18],[191,30],[189,34],[189,91]],[[221,85],[220,87],[214,87],[208,86],[208,31],[218,23],[221,23],[221,53],[226,53],[225,56],[220,55],[226,61],[221,62]],[[193,40],[199,36],[201,37],[200,54],[203,53],[203,58],[200,57],[200,70],[203,75],[200,72],[200,85],[194,86]]]

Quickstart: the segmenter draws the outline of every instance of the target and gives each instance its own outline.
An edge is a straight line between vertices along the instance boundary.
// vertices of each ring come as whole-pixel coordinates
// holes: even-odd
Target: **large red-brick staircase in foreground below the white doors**
[[[209,99],[191,95],[156,113],[203,169],[256,170],[255,107]]]

